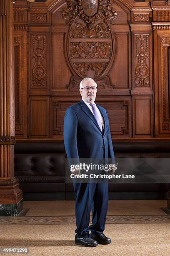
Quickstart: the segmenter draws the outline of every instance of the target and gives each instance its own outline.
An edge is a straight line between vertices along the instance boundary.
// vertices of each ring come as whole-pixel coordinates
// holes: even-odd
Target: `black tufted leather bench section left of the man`
[[[60,192],[60,199],[65,199],[63,143],[16,143],[14,166],[23,192],[36,192],[39,196],[44,195],[40,193]]]

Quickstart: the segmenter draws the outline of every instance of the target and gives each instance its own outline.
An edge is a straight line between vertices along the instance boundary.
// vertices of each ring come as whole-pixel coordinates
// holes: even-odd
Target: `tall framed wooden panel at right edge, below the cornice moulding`
[[[170,28],[170,26],[168,26]],[[170,32],[154,26],[155,38],[155,128],[156,135],[166,137],[170,134],[170,80],[168,77],[168,47]],[[159,53],[159,54],[158,54]],[[157,55],[157,56],[156,56]]]

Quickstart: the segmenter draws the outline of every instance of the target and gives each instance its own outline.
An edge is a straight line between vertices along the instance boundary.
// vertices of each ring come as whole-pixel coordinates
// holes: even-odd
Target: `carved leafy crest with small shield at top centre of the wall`
[[[113,0],[67,0],[67,8],[62,12],[63,18],[72,24],[77,16],[87,24],[93,24],[102,15],[110,22],[117,18],[117,13],[112,8]],[[98,5],[98,7],[97,7]]]

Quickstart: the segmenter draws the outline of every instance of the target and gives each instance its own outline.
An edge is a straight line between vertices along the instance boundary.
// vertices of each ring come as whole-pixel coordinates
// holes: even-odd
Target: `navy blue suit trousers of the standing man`
[[[76,193],[75,233],[77,237],[89,237],[103,233],[108,207],[108,183],[73,183]],[[90,223],[90,211],[92,210],[92,225]]]

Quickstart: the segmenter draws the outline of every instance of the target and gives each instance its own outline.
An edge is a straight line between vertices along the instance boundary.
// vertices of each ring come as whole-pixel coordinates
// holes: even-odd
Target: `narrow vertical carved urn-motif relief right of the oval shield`
[[[149,87],[149,35],[135,35],[135,87]]]

